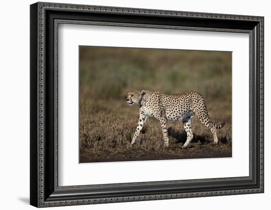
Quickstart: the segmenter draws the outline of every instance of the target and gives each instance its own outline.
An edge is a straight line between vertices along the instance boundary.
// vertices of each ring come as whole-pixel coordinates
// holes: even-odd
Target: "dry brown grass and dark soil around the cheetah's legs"
[[[112,105],[112,109],[108,105]],[[149,118],[135,145],[129,150],[139,107],[128,106],[125,100],[90,102],[82,108],[84,111],[80,115],[80,162],[230,157],[231,113],[226,111],[221,114],[216,106],[225,110],[227,105],[222,102],[209,105],[210,118],[216,123],[226,122],[217,132],[219,145],[212,145],[210,130],[195,117],[192,121],[194,138],[189,148],[181,149],[186,140],[183,124],[169,121],[169,149],[164,149],[161,125],[158,120]]]

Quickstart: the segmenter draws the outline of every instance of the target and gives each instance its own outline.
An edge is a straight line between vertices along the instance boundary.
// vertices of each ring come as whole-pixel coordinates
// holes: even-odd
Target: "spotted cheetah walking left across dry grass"
[[[225,125],[225,123],[216,125],[211,122],[203,96],[195,91],[167,95],[153,90],[134,90],[128,92],[126,102],[128,105],[139,105],[138,125],[130,146],[135,143],[148,117],[155,117],[160,121],[165,147],[169,146],[168,120],[183,122],[187,139],[182,148],[186,148],[193,139],[191,120],[195,115],[211,130],[215,144],[218,142],[216,129]]]

